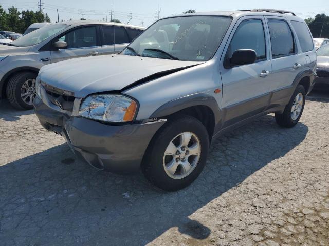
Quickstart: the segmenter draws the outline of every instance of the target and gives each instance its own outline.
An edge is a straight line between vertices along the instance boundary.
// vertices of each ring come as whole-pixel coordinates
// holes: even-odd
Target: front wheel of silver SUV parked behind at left
[[[33,109],[33,100],[35,98],[35,78],[36,74],[32,72],[21,72],[12,76],[6,88],[7,98],[10,104],[16,109]],[[32,85],[32,81],[34,84]],[[26,84],[31,86],[27,88]],[[24,85],[24,87],[23,87]],[[29,89],[29,91],[27,90]],[[28,93],[27,97],[24,95],[26,101],[22,98],[22,94]],[[32,98],[32,103],[30,98]]]

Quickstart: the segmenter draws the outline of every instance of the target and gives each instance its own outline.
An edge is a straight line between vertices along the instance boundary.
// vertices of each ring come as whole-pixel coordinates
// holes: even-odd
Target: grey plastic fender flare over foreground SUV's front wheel
[[[154,111],[150,118],[165,117],[193,106],[207,106],[211,109],[215,119],[214,133],[216,133],[216,129],[222,125],[222,110],[213,96],[203,92],[171,100]]]

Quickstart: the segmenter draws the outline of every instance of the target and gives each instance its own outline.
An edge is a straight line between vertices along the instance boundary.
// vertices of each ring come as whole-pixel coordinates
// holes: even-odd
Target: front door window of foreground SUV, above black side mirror
[[[237,27],[225,57],[232,57],[236,50],[251,49],[257,54],[257,59],[266,58],[265,34],[262,20],[245,20]]]

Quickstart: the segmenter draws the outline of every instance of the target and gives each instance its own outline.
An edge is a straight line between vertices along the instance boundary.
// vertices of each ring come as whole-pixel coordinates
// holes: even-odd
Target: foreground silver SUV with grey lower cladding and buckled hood
[[[188,186],[216,137],[275,113],[299,121],[316,51],[304,20],[279,10],[158,20],[120,54],[43,67],[34,109],[49,131],[100,170]]]

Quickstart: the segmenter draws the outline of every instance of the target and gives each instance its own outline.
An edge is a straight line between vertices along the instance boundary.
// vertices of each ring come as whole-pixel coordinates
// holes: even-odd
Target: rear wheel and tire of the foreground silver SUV
[[[297,95],[302,95],[303,98],[301,100],[302,105],[301,108],[299,109],[299,113],[297,114],[295,111],[295,114],[293,113],[293,107],[296,109],[295,107],[295,99],[297,99]],[[304,106],[305,106],[305,97],[306,97],[306,92],[305,92],[305,88],[302,85],[298,85],[296,90],[294,91],[293,95],[290,98],[289,103],[286,105],[286,107],[284,108],[284,111],[282,114],[276,113],[276,121],[277,124],[282,126],[282,127],[287,127],[287,128],[291,128],[294,127],[300,117],[302,116],[303,110],[304,110]]]

